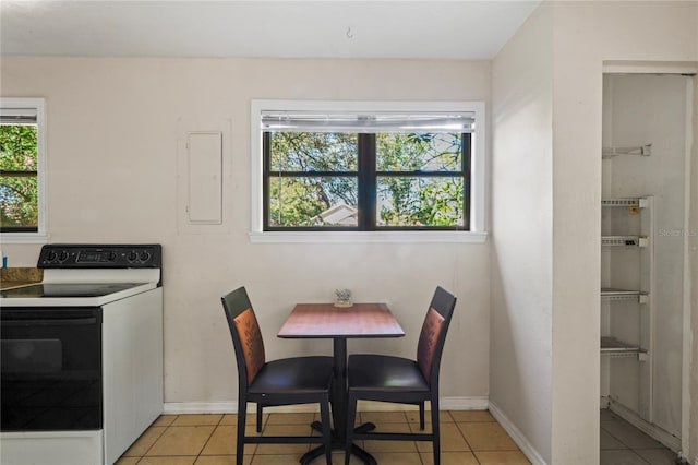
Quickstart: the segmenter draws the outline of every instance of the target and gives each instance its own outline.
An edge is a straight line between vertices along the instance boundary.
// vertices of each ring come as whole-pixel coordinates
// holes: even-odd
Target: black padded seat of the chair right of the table
[[[430,391],[414,360],[387,355],[359,354],[347,362],[351,391]]]

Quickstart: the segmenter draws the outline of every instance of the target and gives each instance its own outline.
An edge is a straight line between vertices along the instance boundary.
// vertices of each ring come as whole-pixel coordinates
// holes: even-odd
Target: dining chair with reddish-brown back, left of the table
[[[244,287],[221,298],[238,362],[237,464],[242,465],[245,443],[322,443],[332,464],[329,390],[332,357],[294,357],[267,361],[260,325]],[[322,437],[246,436],[248,403],[257,406],[318,404]],[[257,417],[257,429],[260,429]]]

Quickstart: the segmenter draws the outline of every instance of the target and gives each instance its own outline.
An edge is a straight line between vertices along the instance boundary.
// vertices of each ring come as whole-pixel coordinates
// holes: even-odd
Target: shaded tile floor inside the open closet
[[[601,465],[674,465],[676,454],[607,409],[601,410]]]

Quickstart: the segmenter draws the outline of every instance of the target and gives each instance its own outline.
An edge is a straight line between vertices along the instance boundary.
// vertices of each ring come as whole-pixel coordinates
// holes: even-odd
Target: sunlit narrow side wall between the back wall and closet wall
[[[552,23],[544,4],[492,65],[490,401],[551,461]],[[529,451],[530,453],[530,451]]]

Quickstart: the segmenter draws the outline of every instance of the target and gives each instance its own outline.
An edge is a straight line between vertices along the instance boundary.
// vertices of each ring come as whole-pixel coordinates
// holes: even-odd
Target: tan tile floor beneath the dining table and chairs
[[[266,434],[309,434],[316,414],[264,415]],[[417,431],[419,413],[364,412],[358,422],[373,421],[377,431]],[[254,417],[248,429],[254,431]],[[163,415],[117,462],[118,465],[222,465],[236,463],[236,415]],[[429,421],[426,428],[431,428]],[[486,410],[441,413],[441,462],[443,465],[529,464],[512,438]],[[431,465],[426,442],[363,441],[364,449],[381,465]],[[252,444],[245,446],[245,465],[296,465],[308,444]],[[344,464],[344,453],[333,454]],[[313,464],[324,464],[324,457]],[[360,461],[352,457],[352,465]]]

